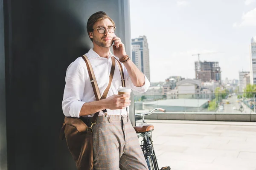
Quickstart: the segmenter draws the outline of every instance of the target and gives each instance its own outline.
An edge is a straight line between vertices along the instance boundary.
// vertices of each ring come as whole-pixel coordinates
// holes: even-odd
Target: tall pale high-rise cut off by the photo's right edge
[[[256,37],[251,39],[250,44],[250,84],[256,84]]]

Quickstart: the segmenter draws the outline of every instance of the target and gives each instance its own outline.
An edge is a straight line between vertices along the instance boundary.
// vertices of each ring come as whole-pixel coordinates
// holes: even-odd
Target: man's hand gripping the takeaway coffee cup
[[[105,105],[105,108],[111,109],[111,110],[117,110],[117,109],[125,109],[129,105],[131,105],[131,100],[128,99],[122,99],[124,97],[130,97],[129,94],[120,94],[120,95],[113,95],[106,99],[103,99],[103,104]]]

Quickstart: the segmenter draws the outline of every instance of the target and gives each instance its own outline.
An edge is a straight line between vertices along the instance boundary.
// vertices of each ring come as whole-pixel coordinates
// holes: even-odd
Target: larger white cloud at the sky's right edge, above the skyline
[[[256,26],[256,8],[243,13],[241,23],[233,23],[233,27]]]

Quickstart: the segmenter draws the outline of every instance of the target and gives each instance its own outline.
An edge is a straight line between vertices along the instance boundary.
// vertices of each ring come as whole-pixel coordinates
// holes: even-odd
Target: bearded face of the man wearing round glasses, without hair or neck
[[[113,38],[114,38],[114,33],[110,33],[108,31],[108,27],[113,26],[111,21],[107,18],[104,20],[99,20],[97,21],[94,26],[93,26],[93,32],[90,34],[90,38],[93,39],[93,42],[101,47],[111,47],[113,44]],[[105,33],[100,34],[96,28],[99,27],[104,27],[105,28]]]

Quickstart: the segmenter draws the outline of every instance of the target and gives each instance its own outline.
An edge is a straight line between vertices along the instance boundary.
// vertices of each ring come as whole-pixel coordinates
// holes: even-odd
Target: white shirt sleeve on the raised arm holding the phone
[[[150,82],[148,81],[147,77],[144,75],[144,77],[145,77],[144,85],[141,86],[141,87],[137,87],[132,83],[131,77],[129,76],[128,71],[126,70],[126,68],[123,64],[122,64],[122,67],[124,68],[126,87],[131,88],[132,90],[138,91],[140,93],[145,93],[148,90],[149,86],[150,86]]]

